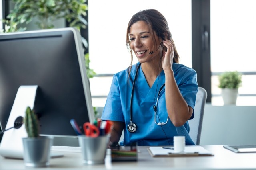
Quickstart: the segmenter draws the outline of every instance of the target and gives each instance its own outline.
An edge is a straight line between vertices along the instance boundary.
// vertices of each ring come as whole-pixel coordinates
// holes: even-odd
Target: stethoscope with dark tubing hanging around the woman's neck
[[[138,70],[140,68],[140,65],[141,65],[141,63],[139,63],[139,65],[138,65],[138,67],[136,69],[136,73],[135,73],[135,76],[134,76],[134,81],[132,83],[132,93],[131,93],[131,101],[130,101],[130,123],[127,126],[128,131],[131,132],[131,133],[135,132],[136,129],[137,129],[136,124],[132,122],[132,98],[133,98],[133,91],[134,91],[135,80],[137,78],[137,73],[138,73]],[[158,104],[159,95],[162,92],[162,90],[164,90],[163,89],[164,86],[165,86],[165,83],[160,87],[160,89],[158,91],[157,99],[156,99],[156,105],[153,106],[153,109],[155,111],[155,123],[156,123],[156,106]],[[168,118],[169,118],[169,115],[167,116],[167,120],[166,120],[165,123],[164,122],[158,122],[158,123],[156,123],[156,125],[159,125],[159,126],[165,125],[168,122]]]

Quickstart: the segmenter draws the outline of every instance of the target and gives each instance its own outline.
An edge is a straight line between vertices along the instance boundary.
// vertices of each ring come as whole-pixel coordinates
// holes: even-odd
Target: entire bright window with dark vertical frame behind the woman
[[[13,8],[8,9],[6,2],[0,0],[0,18]],[[98,74],[90,80],[93,106],[104,106],[112,75],[129,66],[126,26],[133,14],[148,8],[159,10],[168,20],[180,63],[193,64],[198,84],[208,92],[208,102],[223,104],[217,75],[237,70],[243,74],[237,105],[256,106],[255,6],[255,0],[88,0],[90,67]],[[206,54],[200,31],[207,24],[210,52]]]

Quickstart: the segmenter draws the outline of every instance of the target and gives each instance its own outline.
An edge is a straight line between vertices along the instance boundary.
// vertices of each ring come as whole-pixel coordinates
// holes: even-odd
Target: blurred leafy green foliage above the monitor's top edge
[[[78,30],[87,25],[87,21],[83,18],[88,10],[86,0],[12,0],[12,2],[15,3],[14,9],[7,16],[12,30],[17,31],[19,25],[28,24],[34,18],[39,20],[36,24],[40,29],[54,28],[52,22],[59,18],[65,18],[70,27],[76,27]]]

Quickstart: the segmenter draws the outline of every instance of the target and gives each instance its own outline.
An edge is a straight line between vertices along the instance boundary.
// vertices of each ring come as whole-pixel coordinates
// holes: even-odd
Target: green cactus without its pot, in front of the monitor
[[[28,137],[39,137],[38,119],[34,110],[31,110],[29,106],[26,109],[24,124],[28,133]]]

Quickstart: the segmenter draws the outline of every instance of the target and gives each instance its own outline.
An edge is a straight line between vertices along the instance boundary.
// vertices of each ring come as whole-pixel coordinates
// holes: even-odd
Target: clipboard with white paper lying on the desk
[[[163,147],[149,147],[148,152],[152,157],[164,156],[214,156],[211,152],[201,146],[186,146],[184,152],[175,153],[173,149]]]

